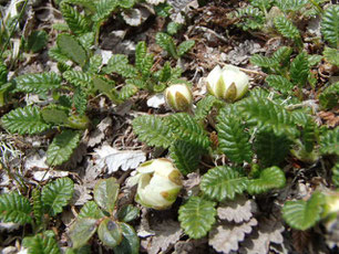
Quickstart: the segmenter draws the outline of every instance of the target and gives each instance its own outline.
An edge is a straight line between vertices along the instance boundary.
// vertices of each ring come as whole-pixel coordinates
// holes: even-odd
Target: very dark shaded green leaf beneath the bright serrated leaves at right
[[[258,131],[254,141],[258,160],[264,167],[279,165],[284,161],[289,154],[290,145],[286,135],[276,135],[266,129]]]

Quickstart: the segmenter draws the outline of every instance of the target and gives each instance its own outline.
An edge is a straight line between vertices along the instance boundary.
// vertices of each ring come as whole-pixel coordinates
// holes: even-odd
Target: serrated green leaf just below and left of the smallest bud
[[[167,148],[173,141],[168,126],[160,117],[138,116],[132,125],[137,138],[148,146]]]

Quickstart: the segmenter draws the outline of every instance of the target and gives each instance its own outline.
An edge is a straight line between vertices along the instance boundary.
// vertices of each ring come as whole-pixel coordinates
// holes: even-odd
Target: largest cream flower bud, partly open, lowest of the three
[[[127,186],[137,183],[135,201],[146,208],[170,208],[182,189],[182,174],[167,159],[155,159],[142,163]]]

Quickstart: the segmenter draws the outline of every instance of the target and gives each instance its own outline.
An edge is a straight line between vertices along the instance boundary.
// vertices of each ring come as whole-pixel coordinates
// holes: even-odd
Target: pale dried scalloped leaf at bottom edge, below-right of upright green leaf
[[[220,253],[230,253],[237,251],[240,242],[244,241],[245,235],[253,231],[253,227],[258,224],[255,218],[243,224],[235,224],[224,222],[223,224],[210,231],[208,235],[208,244],[214,250]]]

